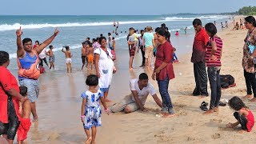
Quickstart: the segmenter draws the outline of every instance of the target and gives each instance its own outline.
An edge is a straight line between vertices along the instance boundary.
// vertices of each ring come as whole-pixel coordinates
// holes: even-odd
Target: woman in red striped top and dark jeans
[[[206,67],[210,82],[210,109],[204,114],[218,112],[219,100],[222,96],[220,70],[222,66],[222,39],[217,36],[217,28],[214,23],[207,23],[206,33],[210,40],[206,46]]]

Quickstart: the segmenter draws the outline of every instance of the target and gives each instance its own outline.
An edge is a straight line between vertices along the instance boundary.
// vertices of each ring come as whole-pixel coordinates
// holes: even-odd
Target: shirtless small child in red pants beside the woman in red
[[[27,88],[26,86],[19,86],[20,94],[23,97],[27,96]],[[20,125],[18,126],[18,144],[23,143],[23,141],[27,138],[27,133],[30,130],[31,122],[30,122],[30,101],[26,100],[23,105],[22,102],[19,102],[19,110],[18,113],[22,115],[20,118]]]

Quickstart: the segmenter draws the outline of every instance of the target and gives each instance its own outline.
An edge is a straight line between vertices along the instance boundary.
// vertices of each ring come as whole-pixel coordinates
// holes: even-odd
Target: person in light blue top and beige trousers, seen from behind
[[[146,26],[146,32],[143,34],[143,42],[145,47],[145,64],[146,66],[151,66],[151,61],[153,57],[154,50],[154,34],[152,34],[152,27]]]

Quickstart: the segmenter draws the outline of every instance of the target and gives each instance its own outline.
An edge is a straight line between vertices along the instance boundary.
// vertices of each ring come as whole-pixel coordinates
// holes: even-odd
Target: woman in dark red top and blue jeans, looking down
[[[156,34],[160,45],[158,46],[156,54],[152,78],[153,80],[156,78],[158,81],[159,92],[162,97],[163,117],[172,117],[174,116],[174,110],[170,100],[168,86],[170,79],[174,78],[174,69],[171,62],[174,48],[171,46],[170,42],[167,42],[167,39],[170,38],[170,33],[165,29],[159,29]]]

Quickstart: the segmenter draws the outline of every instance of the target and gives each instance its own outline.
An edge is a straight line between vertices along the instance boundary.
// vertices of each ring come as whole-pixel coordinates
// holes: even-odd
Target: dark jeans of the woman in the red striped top
[[[207,69],[208,77],[210,81],[210,110],[214,107],[218,107],[219,100],[222,95],[221,79],[219,76],[220,70],[217,67],[208,67]]]

